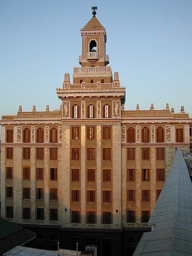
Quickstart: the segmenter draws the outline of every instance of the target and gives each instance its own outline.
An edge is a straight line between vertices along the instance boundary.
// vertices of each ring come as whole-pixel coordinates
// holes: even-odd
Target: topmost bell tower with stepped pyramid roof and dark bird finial
[[[105,67],[109,64],[109,56],[106,55],[106,31],[96,18],[97,7],[92,7],[93,17],[81,29],[82,55],[79,56],[81,67]]]

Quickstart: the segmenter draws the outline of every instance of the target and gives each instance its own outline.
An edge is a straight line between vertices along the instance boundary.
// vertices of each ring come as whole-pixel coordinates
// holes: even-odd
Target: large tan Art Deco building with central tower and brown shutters
[[[38,248],[132,255],[170,171],[189,151],[189,119],[166,109],[125,110],[112,77],[106,31],[95,17],[81,29],[81,67],[65,73],[60,110],[2,116],[1,214],[37,234]],[[53,239],[54,238],[54,239]],[[54,247],[54,246],[53,246]]]

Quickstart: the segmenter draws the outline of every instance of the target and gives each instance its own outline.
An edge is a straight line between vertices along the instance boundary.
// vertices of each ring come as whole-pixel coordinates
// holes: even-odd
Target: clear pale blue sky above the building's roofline
[[[126,87],[125,109],[164,109],[192,117],[192,1],[0,1],[0,116],[58,108],[56,87],[72,82],[80,28],[91,7],[106,28],[112,72]]]

